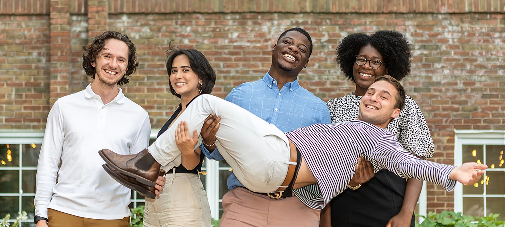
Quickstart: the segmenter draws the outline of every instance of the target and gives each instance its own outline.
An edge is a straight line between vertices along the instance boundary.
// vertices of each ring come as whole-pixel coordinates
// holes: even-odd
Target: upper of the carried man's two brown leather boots
[[[137,154],[116,154],[109,149],[102,149],[98,154],[118,173],[134,178],[137,181],[136,185],[155,187],[161,165],[147,152],[147,149]],[[119,180],[124,181],[122,178]]]

